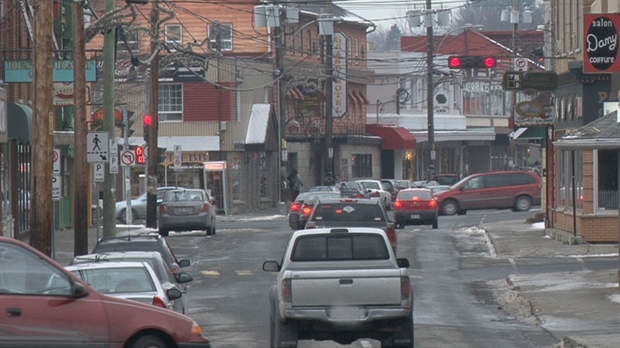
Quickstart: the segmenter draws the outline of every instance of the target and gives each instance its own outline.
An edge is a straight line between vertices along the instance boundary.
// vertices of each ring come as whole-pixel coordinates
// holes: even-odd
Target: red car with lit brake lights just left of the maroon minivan
[[[404,189],[394,202],[396,228],[406,225],[432,225],[438,227],[439,209],[433,192],[428,188]]]

